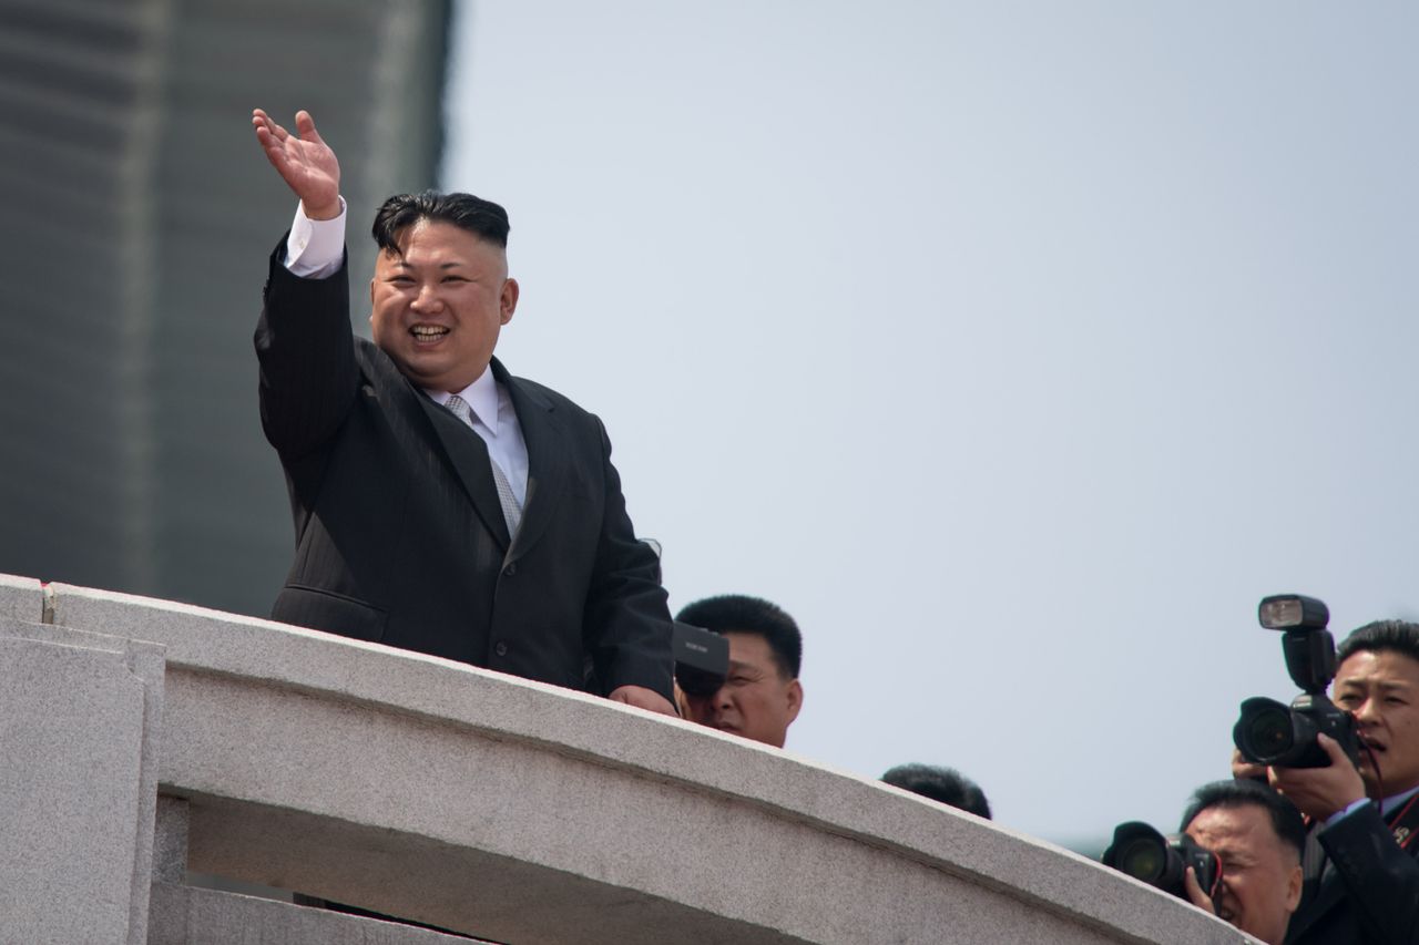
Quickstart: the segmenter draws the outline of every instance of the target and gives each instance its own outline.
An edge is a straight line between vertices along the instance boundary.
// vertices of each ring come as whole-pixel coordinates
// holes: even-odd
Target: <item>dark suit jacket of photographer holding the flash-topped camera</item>
[[[1419,841],[1402,850],[1375,805],[1315,836],[1330,868],[1307,883],[1286,945],[1419,945]]]

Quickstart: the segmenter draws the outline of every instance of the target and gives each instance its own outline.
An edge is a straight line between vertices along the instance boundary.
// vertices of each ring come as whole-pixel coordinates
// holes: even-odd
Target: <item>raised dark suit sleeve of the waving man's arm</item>
[[[348,261],[325,280],[294,275],[271,254],[255,348],[261,365],[261,429],[287,460],[329,441],[359,389],[349,324]]]

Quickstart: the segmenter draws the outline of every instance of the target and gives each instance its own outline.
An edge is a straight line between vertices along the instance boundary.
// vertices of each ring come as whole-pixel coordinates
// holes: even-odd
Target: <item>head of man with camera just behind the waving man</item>
[[[780,607],[746,595],[705,597],[684,607],[681,623],[729,641],[729,674],[712,695],[685,695],[687,717],[700,725],[783,748],[803,707],[799,665],[803,634]]]

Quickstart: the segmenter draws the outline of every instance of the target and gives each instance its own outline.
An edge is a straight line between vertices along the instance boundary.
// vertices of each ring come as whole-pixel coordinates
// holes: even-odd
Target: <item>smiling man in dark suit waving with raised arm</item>
[[[272,617],[674,714],[666,593],[600,420],[492,358],[507,213],[390,197],[356,339],[335,153],[307,112],[253,126],[299,199],[255,335],[297,531]]]

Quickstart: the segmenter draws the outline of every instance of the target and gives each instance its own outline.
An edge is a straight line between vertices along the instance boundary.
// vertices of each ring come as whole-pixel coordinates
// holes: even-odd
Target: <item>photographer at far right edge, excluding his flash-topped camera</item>
[[[1355,718],[1359,770],[1321,735],[1328,768],[1271,768],[1313,820],[1287,945],[1419,942],[1419,624],[1382,620],[1341,643],[1331,700]]]

